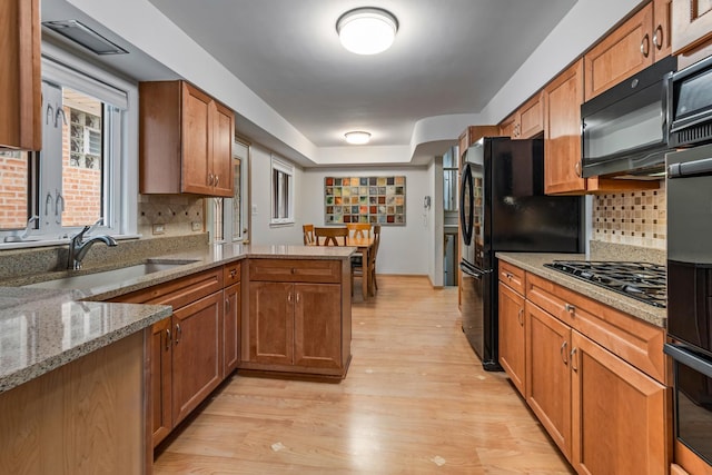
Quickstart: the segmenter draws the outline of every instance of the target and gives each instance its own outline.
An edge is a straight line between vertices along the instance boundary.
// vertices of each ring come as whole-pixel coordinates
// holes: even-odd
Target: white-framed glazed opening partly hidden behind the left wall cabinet
[[[235,194],[233,198],[212,198],[212,240],[215,243],[246,241],[247,165],[249,146],[241,141],[233,144],[233,167],[235,168]]]

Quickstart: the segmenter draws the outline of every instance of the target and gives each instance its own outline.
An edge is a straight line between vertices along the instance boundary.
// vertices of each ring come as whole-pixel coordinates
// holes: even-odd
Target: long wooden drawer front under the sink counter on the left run
[[[147,289],[122,295],[112,301],[171,305],[174,310],[222,289],[222,267],[205,270]]]

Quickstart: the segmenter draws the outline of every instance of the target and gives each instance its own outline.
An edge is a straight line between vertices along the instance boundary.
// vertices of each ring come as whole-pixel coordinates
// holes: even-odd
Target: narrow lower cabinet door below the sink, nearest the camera
[[[171,318],[166,318],[151,326],[151,428],[154,447],[156,447],[174,428],[171,398],[171,357],[172,336]]]

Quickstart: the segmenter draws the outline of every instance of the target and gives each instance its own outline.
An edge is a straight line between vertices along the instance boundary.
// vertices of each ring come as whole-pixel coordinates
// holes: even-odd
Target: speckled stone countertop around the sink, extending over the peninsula
[[[250,258],[348,260],[355,247],[216,245],[152,257],[182,260],[145,276],[90,288],[52,290],[21,287],[68,275],[117,269],[113,264],[79,271],[44,273],[0,281],[0,393],[51,372],[171,315],[162,305],[102,303],[154,285]],[[146,260],[146,259],[144,259]]]

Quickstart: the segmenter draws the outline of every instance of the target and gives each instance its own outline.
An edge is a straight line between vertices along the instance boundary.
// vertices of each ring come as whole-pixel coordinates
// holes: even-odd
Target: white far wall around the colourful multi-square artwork
[[[383,226],[380,229],[380,248],[378,250],[378,274],[426,275],[433,259],[433,247],[428,235],[433,222],[427,215],[423,216],[423,198],[432,194],[432,179],[428,170],[421,167],[405,168],[309,168],[301,174],[298,185],[301,202],[297,211],[299,229],[305,222],[324,226],[324,178],[333,177],[368,177],[368,176],[405,176],[406,225]]]

